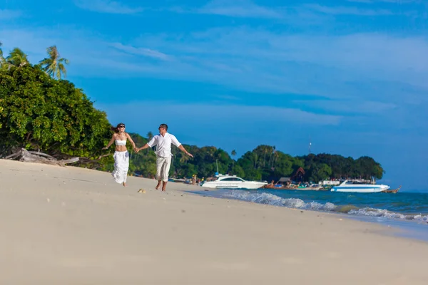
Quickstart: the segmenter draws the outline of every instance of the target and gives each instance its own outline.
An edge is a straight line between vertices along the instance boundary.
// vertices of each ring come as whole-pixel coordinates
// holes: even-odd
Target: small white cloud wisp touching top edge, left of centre
[[[118,1],[111,0],[75,0],[76,6],[88,11],[108,14],[136,14],[143,11],[141,7],[131,8]]]

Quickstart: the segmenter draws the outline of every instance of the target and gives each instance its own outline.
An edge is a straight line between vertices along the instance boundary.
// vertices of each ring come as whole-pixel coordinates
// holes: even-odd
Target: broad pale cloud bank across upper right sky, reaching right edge
[[[190,77],[244,90],[343,98],[370,96],[373,90],[356,87],[373,81],[382,81],[377,95],[391,83],[428,88],[428,40],[422,36],[290,35],[240,27],[144,36],[136,44],[174,54],[188,76],[194,73]],[[395,87],[404,94],[403,86]]]

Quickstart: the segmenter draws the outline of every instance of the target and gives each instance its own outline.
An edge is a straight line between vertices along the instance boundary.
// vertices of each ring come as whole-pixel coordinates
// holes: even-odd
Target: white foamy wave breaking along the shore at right
[[[422,214],[400,214],[397,212],[391,212],[387,209],[376,209],[371,207],[359,208],[354,205],[336,205],[330,202],[325,204],[319,202],[305,202],[298,198],[281,198],[277,195],[273,195],[265,192],[243,192],[238,190],[232,190],[230,192],[223,193],[222,198],[240,199],[248,202],[255,202],[260,204],[270,204],[273,206],[296,208],[296,209],[312,209],[316,211],[325,212],[340,212],[344,214],[355,214],[360,216],[370,217],[386,217],[392,219],[409,219],[418,222],[428,222],[428,215]]]

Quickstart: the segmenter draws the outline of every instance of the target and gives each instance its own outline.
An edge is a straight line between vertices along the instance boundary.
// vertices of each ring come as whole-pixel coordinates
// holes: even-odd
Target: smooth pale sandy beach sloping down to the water
[[[0,284],[427,284],[428,244],[392,227],[71,166],[0,179]]]

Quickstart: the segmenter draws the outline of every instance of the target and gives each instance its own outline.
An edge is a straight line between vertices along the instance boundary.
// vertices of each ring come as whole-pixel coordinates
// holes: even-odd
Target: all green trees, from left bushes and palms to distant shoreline
[[[78,166],[113,169],[113,150],[101,150],[111,138],[106,113],[93,107],[83,90],[64,80],[68,60],[56,46],[46,49],[46,58],[33,65],[26,54],[14,48],[4,57],[0,43],[0,157],[20,147],[41,150],[57,158],[81,157]],[[131,134],[137,145],[153,138]],[[148,149],[138,154],[128,145],[131,175],[154,177],[156,155]],[[291,156],[275,146],[259,145],[235,157],[214,146],[185,145],[190,158],[173,147],[172,177],[210,177],[215,172],[234,174],[246,180],[277,180],[292,177],[300,167],[305,181],[327,178],[381,179],[382,166],[372,157],[319,154]],[[153,147],[154,149],[154,147]]]

